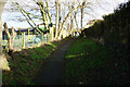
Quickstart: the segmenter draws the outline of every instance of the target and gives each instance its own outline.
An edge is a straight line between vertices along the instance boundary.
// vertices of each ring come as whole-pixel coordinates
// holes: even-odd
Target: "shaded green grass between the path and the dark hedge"
[[[117,54],[90,39],[79,38],[66,53],[65,84],[130,84],[125,55],[126,53]]]

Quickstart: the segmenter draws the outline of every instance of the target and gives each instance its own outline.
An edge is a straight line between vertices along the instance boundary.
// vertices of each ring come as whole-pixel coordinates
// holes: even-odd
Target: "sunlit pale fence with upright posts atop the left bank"
[[[46,34],[46,35],[16,35],[14,39],[13,47],[15,50],[28,48],[28,47],[34,47],[39,44],[46,44],[51,41],[51,35]],[[3,36],[2,40],[2,46],[3,47],[9,47],[8,45],[8,37]]]

